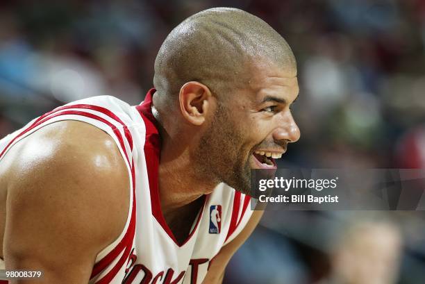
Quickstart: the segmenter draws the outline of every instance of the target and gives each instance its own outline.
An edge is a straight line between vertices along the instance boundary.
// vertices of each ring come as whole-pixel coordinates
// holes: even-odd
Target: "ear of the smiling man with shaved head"
[[[178,94],[183,117],[191,124],[197,126],[203,124],[212,98],[211,91],[206,85],[196,81],[185,83]]]

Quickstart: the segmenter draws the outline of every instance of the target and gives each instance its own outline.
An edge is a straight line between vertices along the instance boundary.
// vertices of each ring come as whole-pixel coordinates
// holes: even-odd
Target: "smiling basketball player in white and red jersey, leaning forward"
[[[251,169],[299,139],[294,56],[258,17],[213,8],[168,35],[153,85],[140,106],[92,97],[0,140],[0,269],[222,283],[261,216]]]

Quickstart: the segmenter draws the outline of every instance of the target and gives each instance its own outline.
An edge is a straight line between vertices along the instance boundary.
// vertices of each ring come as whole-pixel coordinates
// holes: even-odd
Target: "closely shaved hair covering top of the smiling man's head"
[[[219,92],[247,83],[247,65],[261,58],[296,69],[288,43],[262,19],[236,8],[203,10],[167,36],[155,60],[153,85],[167,96],[188,81]]]

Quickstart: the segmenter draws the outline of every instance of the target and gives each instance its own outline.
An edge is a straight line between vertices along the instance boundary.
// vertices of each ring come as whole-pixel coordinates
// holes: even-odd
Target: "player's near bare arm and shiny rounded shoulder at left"
[[[93,126],[44,128],[16,145],[8,171],[6,269],[44,272],[41,281],[24,283],[88,283],[97,253],[126,222],[126,166],[113,140]]]

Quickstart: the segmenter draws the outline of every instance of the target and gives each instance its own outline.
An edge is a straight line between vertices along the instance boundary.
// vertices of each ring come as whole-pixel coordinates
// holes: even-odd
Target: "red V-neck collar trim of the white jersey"
[[[206,205],[207,198],[203,197],[203,206],[201,208],[201,213],[198,214],[197,222],[190,232],[186,240],[179,244],[174,237],[173,232],[169,228],[167,222],[165,222],[165,218],[163,215],[163,210],[161,210],[160,206],[160,197],[159,197],[159,189],[158,189],[158,167],[160,162],[160,149],[161,149],[161,140],[158,132],[158,128],[156,127],[156,119],[152,114],[152,96],[155,93],[155,89],[149,90],[144,101],[140,106],[136,106],[136,109],[142,116],[144,124],[146,126],[146,141],[144,142],[144,156],[146,158],[147,163],[147,172],[149,178],[149,190],[151,193],[151,207],[152,207],[152,215],[155,217],[156,221],[160,224],[160,226],[164,229],[164,231],[169,235],[169,237],[173,240],[173,242],[178,247],[183,247],[189,240],[192,238],[194,232],[197,231],[198,225],[201,221],[203,211]]]

